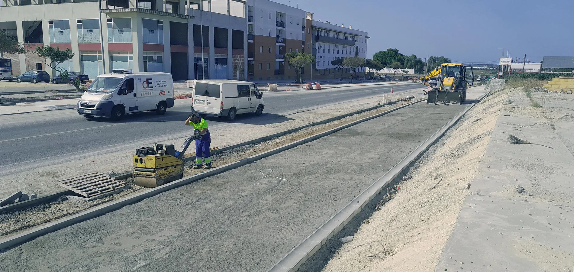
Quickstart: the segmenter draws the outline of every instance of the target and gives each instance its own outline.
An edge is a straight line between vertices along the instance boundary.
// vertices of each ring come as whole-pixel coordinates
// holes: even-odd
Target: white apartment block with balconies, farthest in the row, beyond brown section
[[[336,79],[341,76],[341,70],[331,64],[331,61],[342,57],[367,57],[367,32],[353,29],[344,24],[331,24],[329,21],[313,21],[312,23],[312,53],[316,57],[313,65],[313,79]],[[356,69],[357,74],[364,74],[364,67]],[[351,77],[350,68],[343,68],[343,77]]]

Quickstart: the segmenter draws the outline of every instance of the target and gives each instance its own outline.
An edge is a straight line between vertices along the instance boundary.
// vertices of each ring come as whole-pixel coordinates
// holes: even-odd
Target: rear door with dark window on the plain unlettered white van
[[[196,81],[193,88],[193,109],[198,112],[219,114],[221,111],[221,85]]]

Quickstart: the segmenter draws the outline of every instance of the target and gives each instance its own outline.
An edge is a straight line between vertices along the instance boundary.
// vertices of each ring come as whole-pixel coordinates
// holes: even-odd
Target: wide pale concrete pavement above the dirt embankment
[[[512,99],[523,112],[499,116],[437,272],[572,270],[574,122],[561,108],[571,112],[574,97],[546,95],[533,94],[542,113],[522,94]]]

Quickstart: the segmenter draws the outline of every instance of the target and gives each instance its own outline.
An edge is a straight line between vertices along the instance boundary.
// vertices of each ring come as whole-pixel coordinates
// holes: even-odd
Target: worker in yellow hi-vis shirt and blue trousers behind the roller
[[[195,165],[193,165],[193,169],[201,168],[203,162],[205,162],[204,168],[210,169],[211,134],[210,130],[207,129],[207,121],[194,112],[189,116],[189,118],[187,118],[187,120],[185,120],[185,125],[193,126],[196,130],[195,133],[201,135],[201,139],[195,139]]]

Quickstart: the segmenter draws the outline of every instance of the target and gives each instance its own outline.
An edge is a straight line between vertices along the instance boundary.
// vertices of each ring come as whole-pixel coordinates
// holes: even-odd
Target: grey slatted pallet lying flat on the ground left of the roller
[[[57,184],[84,197],[97,196],[126,186],[125,181],[116,180],[103,173],[90,173],[57,181]]]

